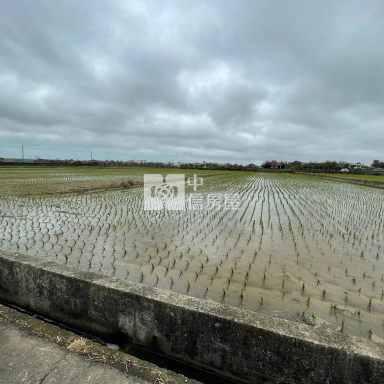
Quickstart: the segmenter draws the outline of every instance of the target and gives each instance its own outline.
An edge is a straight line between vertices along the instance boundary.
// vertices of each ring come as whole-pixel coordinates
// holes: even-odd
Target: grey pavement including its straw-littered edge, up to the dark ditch
[[[6,328],[13,328],[16,337],[4,335]],[[61,366],[64,375],[60,377],[56,371],[52,371],[54,378],[45,378],[47,383],[201,384],[182,374],[84,338],[86,351],[69,352],[67,347],[78,338],[69,330],[0,304],[0,356],[1,362],[8,364],[0,366],[0,383],[40,383],[44,367],[51,367],[58,360],[57,354],[66,352],[67,357]],[[59,349],[62,349],[61,352]],[[41,382],[45,383],[45,380]]]

